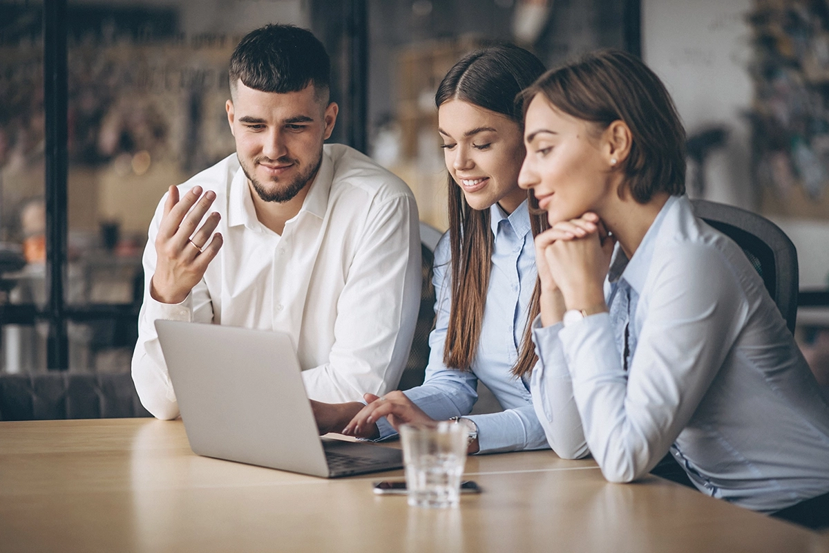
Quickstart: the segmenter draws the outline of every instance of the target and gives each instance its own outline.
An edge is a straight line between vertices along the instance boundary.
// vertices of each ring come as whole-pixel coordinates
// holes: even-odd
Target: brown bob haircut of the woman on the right
[[[619,196],[628,190],[644,204],[657,192],[685,193],[685,129],[665,85],[638,57],[602,50],[547,71],[518,97],[525,119],[538,95],[599,132],[613,121],[628,125],[633,144],[619,166]]]

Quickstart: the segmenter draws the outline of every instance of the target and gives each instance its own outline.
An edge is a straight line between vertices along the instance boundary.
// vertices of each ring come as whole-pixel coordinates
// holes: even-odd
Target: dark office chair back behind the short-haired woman
[[[798,276],[792,240],[772,221],[751,211],[705,200],[691,200],[691,206],[696,216],[743,249],[794,334]]]

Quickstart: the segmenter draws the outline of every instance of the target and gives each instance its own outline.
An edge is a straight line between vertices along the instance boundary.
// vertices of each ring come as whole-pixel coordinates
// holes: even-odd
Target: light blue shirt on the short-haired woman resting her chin
[[[702,492],[756,511],[829,492],[829,405],[763,279],[685,196],[667,201],[631,260],[617,246],[605,297],[610,313],[534,323],[548,435],[579,444],[578,429],[565,435],[545,415],[545,395],[571,379],[581,443],[608,480],[640,478],[670,450]]]

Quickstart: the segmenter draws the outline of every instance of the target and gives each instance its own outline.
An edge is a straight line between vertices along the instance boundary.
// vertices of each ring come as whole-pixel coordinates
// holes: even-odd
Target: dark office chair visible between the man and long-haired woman
[[[432,285],[432,264],[434,248],[442,233],[440,230],[420,222],[420,255],[423,285],[420,288],[420,309],[417,324],[414,327],[414,339],[406,361],[403,375],[400,376],[398,390],[409,390],[423,384],[424,371],[429,362],[429,332],[434,326],[434,286]]]

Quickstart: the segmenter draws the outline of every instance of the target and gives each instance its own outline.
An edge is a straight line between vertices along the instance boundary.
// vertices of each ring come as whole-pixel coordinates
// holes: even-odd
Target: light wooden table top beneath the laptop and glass
[[[660,478],[550,451],[470,457],[483,488],[410,508],[371,482],[196,456],[181,421],[0,423],[0,551],[829,551],[829,539]]]

